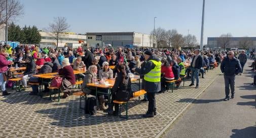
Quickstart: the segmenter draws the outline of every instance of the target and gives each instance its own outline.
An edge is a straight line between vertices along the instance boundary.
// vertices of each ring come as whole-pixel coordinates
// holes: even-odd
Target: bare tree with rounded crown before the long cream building
[[[68,28],[69,25],[67,24],[65,17],[54,18],[54,22],[49,24],[48,32],[50,32],[50,35],[55,37],[55,39],[57,40],[56,50],[58,48],[59,37],[65,35],[64,32],[67,31]]]

